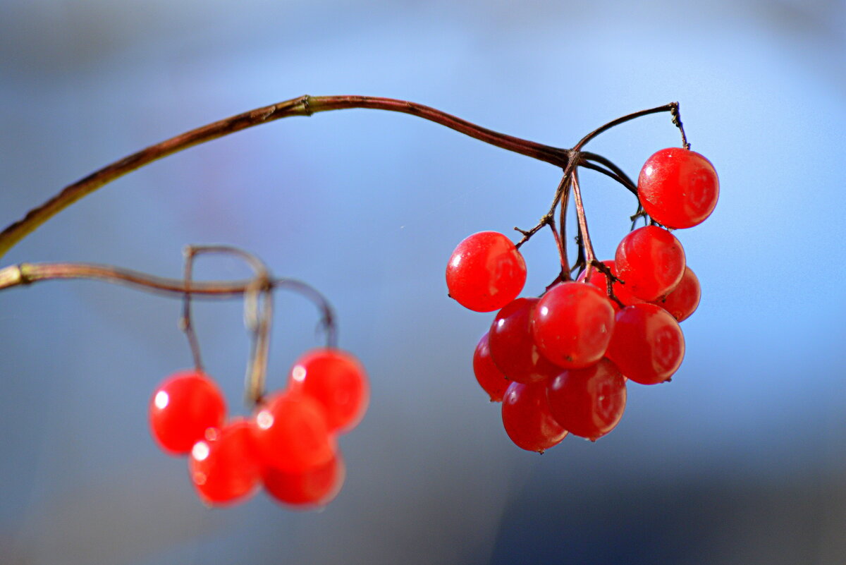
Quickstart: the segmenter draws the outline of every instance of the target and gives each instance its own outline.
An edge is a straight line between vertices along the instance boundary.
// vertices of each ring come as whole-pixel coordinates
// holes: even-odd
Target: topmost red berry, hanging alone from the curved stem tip
[[[690,228],[705,221],[719,195],[717,171],[695,151],[662,149],[640,170],[640,203],[653,220],[667,228]]]

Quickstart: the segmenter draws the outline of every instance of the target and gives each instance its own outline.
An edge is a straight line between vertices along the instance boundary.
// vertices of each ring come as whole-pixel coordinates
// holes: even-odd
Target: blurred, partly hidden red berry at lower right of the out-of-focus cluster
[[[264,474],[264,486],[267,494],[279,502],[304,509],[320,507],[338,496],[345,475],[343,459],[338,453],[327,464],[304,473],[268,468]]]

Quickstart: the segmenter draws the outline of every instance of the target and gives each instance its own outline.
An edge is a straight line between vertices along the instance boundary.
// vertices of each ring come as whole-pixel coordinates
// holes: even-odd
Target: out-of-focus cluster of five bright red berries
[[[369,396],[357,359],[320,348],[300,357],[288,387],[249,419],[227,420],[220,389],[201,370],[178,372],[153,393],[150,425],[162,450],[188,456],[191,481],[207,504],[244,500],[264,485],[279,502],[315,507],[343,485],[336,436],[360,422]]]

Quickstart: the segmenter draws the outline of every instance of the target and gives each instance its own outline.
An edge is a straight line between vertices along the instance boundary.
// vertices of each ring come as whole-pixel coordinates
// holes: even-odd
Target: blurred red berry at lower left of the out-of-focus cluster
[[[255,492],[261,467],[255,457],[252,424],[233,420],[208,428],[191,448],[188,469],[197,494],[208,504],[234,502]]]

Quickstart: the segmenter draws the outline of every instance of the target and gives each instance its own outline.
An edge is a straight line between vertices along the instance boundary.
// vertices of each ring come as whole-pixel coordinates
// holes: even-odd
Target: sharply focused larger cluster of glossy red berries
[[[517,298],[525,261],[502,233],[475,233],[453,251],[450,296],[470,310],[499,310],[473,367],[491,400],[502,401],[505,431],[519,447],[543,452],[568,433],[606,435],[623,416],[626,381],[669,381],[682,362],[678,322],[698,306],[700,285],[665,228],[711,214],[717,173],[699,153],[664,149],[645,163],[637,191],[651,225],[626,235],[613,261],[586,265],[540,298]]]

